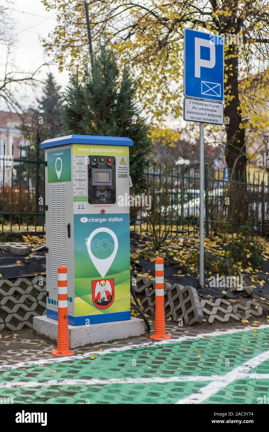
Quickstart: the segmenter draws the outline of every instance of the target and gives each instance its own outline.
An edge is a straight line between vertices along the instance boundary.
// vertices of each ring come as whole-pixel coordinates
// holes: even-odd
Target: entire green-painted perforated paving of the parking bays
[[[46,382],[51,379],[92,379],[119,378],[171,378],[184,376],[225,375],[244,362],[269,348],[269,328],[222,334],[166,343],[142,346],[114,353],[104,353],[95,359],[81,358],[47,365],[30,365],[23,368],[0,370],[0,382]],[[264,362],[251,373],[269,373],[268,362]],[[254,382],[254,380],[253,380]],[[255,381],[255,390],[267,394],[266,385],[260,388]],[[209,381],[206,382],[207,385]],[[165,384],[86,384],[86,385],[44,386],[42,388],[1,389],[1,396],[16,395],[16,403],[79,403],[83,394],[91,403],[174,403],[182,397],[198,392],[204,384],[192,382],[169,382]],[[238,383],[237,383],[238,384]],[[241,383],[239,383],[241,385]],[[14,384],[16,385],[16,384]],[[243,384],[242,384],[243,385]],[[251,388],[251,385],[248,384]],[[200,386],[200,387],[199,387]],[[247,385],[245,385],[247,387]],[[244,385],[243,385],[244,388]],[[84,390],[82,390],[84,389]],[[233,388],[219,391],[204,403],[250,403],[251,392]],[[255,392],[254,391],[254,392]],[[82,392],[82,393],[81,393]],[[255,393],[255,394],[256,394]],[[260,394],[259,393],[259,394]],[[89,396],[86,397],[85,395]],[[255,396],[254,399],[256,400]],[[112,398],[112,399],[110,399]],[[28,400],[28,402],[26,402]],[[51,400],[53,402],[51,402]],[[214,400],[212,402],[212,400]],[[234,400],[235,402],[229,402]],[[25,401],[25,402],[24,402]],[[80,400],[81,401],[81,400]],[[81,401],[83,402],[83,401]]]

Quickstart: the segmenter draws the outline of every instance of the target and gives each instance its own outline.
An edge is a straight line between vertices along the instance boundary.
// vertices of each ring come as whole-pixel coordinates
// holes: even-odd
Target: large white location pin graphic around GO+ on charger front
[[[92,238],[98,232],[100,232],[100,233],[101,232],[107,232],[108,234],[111,235],[111,237],[114,240],[114,251],[112,252],[112,254],[110,255],[110,257],[104,258],[103,260],[101,260],[100,258],[96,258],[94,256],[94,254],[92,253],[92,249],[91,249]],[[102,238],[99,239],[99,243],[101,241],[102,241]],[[95,268],[98,270],[98,272],[100,273],[100,275],[102,277],[104,277],[108,273],[108,270],[110,269],[110,267],[111,267],[111,265],[112,265],[112,263],[114,261],[114,258],[115,258],[116,254],[117,254],[118,245],[119,245],[119,243],[118,243],[118,239],[117,239],[116,234],[113,231],[111,231],[111,229],[109,229],[109,228],[97,228],[89,236],[88,241],[87,241],[88,253],[89,253],[89,256],[90,256],[90,258],[91,258],[91,260],[92,260]]]

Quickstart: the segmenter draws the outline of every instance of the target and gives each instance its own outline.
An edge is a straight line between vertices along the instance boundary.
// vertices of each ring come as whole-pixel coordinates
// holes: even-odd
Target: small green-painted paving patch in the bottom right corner
[[[267,400],[267,402],[265,402]],[[237,379],[202,404],[269,403],[269,379]]]

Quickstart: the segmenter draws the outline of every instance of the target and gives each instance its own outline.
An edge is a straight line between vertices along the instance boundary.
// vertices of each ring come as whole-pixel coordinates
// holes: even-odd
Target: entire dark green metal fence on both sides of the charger
[[[12,155],[14,147],[12,146]],[[5,146],[3,148],[5,155]],[[0,230],[43,231],[45,225],[44,152],[19,147],[13,169],[0,167]],[[269,173],[236,177],[205,164],[206,235],[237,232],[249,224],[254,235],[269,235]],[[199,171],[184,165],[153,164],[146,169],[151,208],[131,207],[136,233],[161,235],[199,230]],[[238,180],[239,178],[239,180]],[[136,201],[137,202],[137,201]],[[2,206],[1,206],[2,203]],[[1,208],[2,207],[2,208]]]

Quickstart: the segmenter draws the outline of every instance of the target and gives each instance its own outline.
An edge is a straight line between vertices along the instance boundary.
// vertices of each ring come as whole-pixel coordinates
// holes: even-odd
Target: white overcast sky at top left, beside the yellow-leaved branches
[[[20,71],[32,72],[41,64],[48,62],[44,54],[44,49],[39,41],[39,36],[46,37],[48,32],[54,29],[57,24],[57,21],[54,20],[55,15],[45,10],[41,0],[23,0],[23,2],[22,0],[14,0],[14,5],[10,7],[14,10],[8,10],[7,12],[14,18],[15,24],[13,34],[16,34],[17,38],[16,44],[13,47],[13,59],[15,60],[16,68]],[[2,66],[3,63],[2,57]],[[50,70],[57,83],[61,85],[63,89],[68,82],[68,73],[66,71],[60,73],[56,65],[43,67],[39,74],[39,79],[46,79],[46,75]],[[26,95],[21,95],[20,102],[27,108],[28,105],[35,103],[35,97],[40,95],[41,92],[39,91],[38,93],[39,94],[34,91],[28,91]],[[3,109],[3,105],[1,105],[0,108]]]

